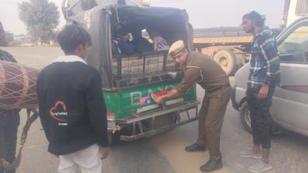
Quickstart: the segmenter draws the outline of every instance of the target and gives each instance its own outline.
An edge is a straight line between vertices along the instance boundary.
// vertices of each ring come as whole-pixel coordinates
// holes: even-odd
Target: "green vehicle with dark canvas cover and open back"
[[[78,3],[74,5],[77,7]],[[183,40],[192,50],[192,26],[185,10],[96,4],[81,12],[74,12],[73,5],[64,5],[63,11],[68,23],[78,23],[91,34],[93,45],[87,63],[100,71],[111,141],[149,137],[198,119],[195,84],[188,93],[162,105],[154,102],[155,97],[177,87],[184,74],[168,51],[131,56],[111,54],[113,30],[132,32],[150,25],[159,29],[169,45]],[[170,73],[177,76],[173,78]]]

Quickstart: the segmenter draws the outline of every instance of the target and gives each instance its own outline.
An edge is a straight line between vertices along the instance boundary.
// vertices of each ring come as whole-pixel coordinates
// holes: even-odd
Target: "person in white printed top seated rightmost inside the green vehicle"
[[[155,27],[149,27],[146,29],[146,31],[148,32],[148,35],[153,41],[154,51],[163,51],[169,49],[167,41],[162,38],[161,34]]]

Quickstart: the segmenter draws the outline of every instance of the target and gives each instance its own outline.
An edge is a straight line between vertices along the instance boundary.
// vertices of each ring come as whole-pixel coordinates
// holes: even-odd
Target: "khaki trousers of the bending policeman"
[[[220,135],[225,110],[232,93],[231,87],[206,93],[199,112],[199,130],[197,144],[206,146],[210,160],[221,159]]]

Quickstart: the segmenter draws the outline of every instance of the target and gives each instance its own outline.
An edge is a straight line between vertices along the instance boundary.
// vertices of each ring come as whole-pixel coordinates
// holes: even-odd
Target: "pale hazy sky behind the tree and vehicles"
[[[26,34],[25,25],[18,17],[18,3],[28,0],[0,0],[0,21],[6,32]],[[61,12],[62,0],[49,0],[56,3]],[[255,10],[265,15],[265,25],[279,27],[283,19],[285,0],[144,0],[151,6],[186,9],[194,28],[239,26],[242,16]],[[61,12],[59,27],[65,25]]]

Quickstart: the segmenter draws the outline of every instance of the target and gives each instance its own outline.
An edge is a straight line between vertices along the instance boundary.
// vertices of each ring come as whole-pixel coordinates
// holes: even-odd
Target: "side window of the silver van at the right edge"
[[[279,45],[282,62],[308,62],[308,26],[298,27]]]

